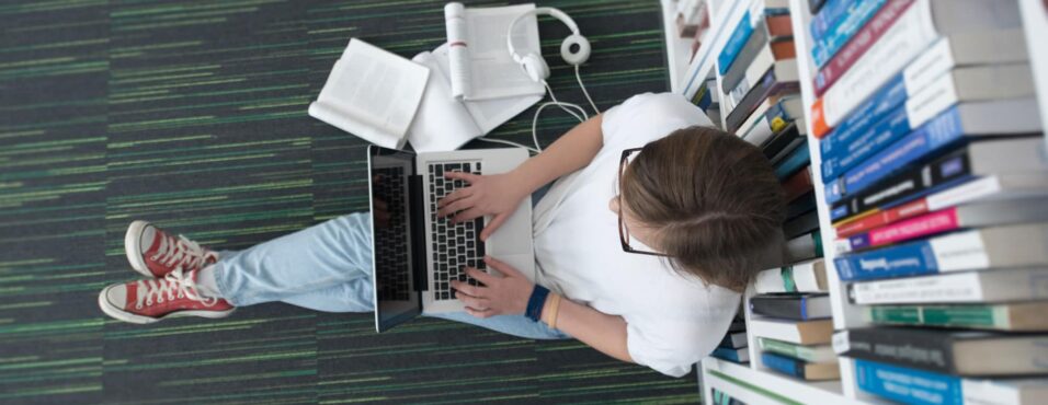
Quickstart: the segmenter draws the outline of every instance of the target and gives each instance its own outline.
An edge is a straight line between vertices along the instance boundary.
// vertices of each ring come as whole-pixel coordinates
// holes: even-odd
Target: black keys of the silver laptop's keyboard
[[[451,218],[436,217],[436,202],[452,192],[465,188],[466,182],[445,178],[445,172],[465,172],[480,174],[480,162],[431,163],[429,165],[430,220],[432,223],[431,238],[433,241],[433,298],[436,300],[454,300],[455,289],[452,280],[469,282],[480,286],[472,277],[466,276],[465,266],[483,269],[483,242],[480,241],[480,231],[483,230],[483,217],[453,224]]]

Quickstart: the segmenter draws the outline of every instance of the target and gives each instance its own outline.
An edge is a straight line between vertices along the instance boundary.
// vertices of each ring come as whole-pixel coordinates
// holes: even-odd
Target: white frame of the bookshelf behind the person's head
[[[1043,38],[1048,37],[1048,3],[1043,0],[1018,0],[1021,11],[1023,12],[1024,32],[1027,38],[1029,49],[1029,63],[1034,72],[1034,82],[1036,84],[1036,94],[1039,100],[1039,112],[1041,125],[1048,124],[1048,53],[1044,53]],[[672,35],[673,19],[671,9],[672,0],[662,0],[663,10],[667,13],[668,28],[668,49],[671,48],[672,40],[681,40]],[[691,54],[691,49],[682,47],[683,54],[679,50],[675,55],[676,65],[670,67],[671,91],[683,94],[691,100],[699,90],[704,81],[716,79],[717,86],[721,85],[721,78],[717,74],[717,56],[725,47],[732,30],[747,14],[748,10],[754,4],[754,0],[706,0],[705,7],[709,8],[709,31],[703,40],[702,47],[695,53],[691,61],[685,62]],[[809,34],[809,23],[812,15],[809,11],[808,0],[788,0],[790,20],[794,32],[794,43],[797,48],[796,63],[800,83],[800,97],[805,106],[805,125],[809,134],[807,148],[810,154],[810,164],[812,170],[812,184],[816,194],[816,209],[819,217],[819,229],[823,241],[823,258],[827,267],[827,278],[829,286],[829,296],[831,302],[831,312],[834,331],[852,329],[869,326],[864,319],[861,305],[852,304],[847,299],[846,284],[843,282],[834,267],[833,261],[836,258],[833,241],[836,240],[836,233],[830,221],[830,207],[825,201],[824,184],[821,166],[821,153],[818,141],[812,141],[810,134],[815,134],[812,128],[811,109],[812,103],[818,100],[812,84],[812,78],[818,73],[815,62],[811,60],[811,36]],[[673,55],[670,53],[670,55]],[[671,63],[673,61],[671,60]],[[721,120],[717,123],[721,128],[726,127],[725,119],[727,114],[721,114]],[[1046,139],[1046,155],[1048,155],[1048,132]],[[754,315],[748,304],[750,298],[755,296],[754,288],[751,287],[744,294],[743,314],[747,325],[751,323]],[[748,327],[749,329],[749,327]],[[839,337],[839,336],[835,336]],[[713,403],[710,390],[716,389],[733,398],[740,400],[747,404],[886,404],[887,400],[867,394],[858,389],[856,383],[855,360],[847,357],[839,358],[840,381],[810,382],[794,379],[785,374],[770,371],[761,361],[761,350],[757,345],[757,337],[748,333],[748,349],[750,362],[739,364],[713,357],[704,359],[698,364],[699,387],[703,392],[704,403]],[[834,342],[834,344],[839,344]]]

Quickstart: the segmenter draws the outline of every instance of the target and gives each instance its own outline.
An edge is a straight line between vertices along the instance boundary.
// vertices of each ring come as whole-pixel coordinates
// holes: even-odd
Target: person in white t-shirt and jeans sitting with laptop
[[[481,239],[557,180],[533,216],[544,223],[534,229],[536,282],[553,292],[542,322],[525,317],[539,288],[486,257],[503,276],[468,268],[483,285],[454,282],[466,311],[434,316],[526,338],[573,337],[623,361],[686,374],[717,346],[751,278],[777,259],[785,215],[761,151],[709,125],[680,95],[641,94],[512,172],[447,174],[469,186],[440,201],[438,216],[491,216]],[[371,312],[372,220],[351,213],[240,252],[135,221],[127,257],[148,278],[106,287],[99,303],[133,323],[217,319],[273,301]]]

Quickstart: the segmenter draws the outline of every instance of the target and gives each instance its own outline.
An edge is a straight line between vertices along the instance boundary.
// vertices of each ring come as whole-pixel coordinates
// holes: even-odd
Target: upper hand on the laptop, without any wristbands
[[[481,240],[487,240],[495,230],[513,215],[521,200],[527,196],[520,181],[510,173],[477,175],[462,172],[447,172],[444,176],[452,180],[465,181],[469,186],[444,197],[438,204],[437,216],[449,217],[453,222],[468,221],[481,216],[494,218],[480,233]]]

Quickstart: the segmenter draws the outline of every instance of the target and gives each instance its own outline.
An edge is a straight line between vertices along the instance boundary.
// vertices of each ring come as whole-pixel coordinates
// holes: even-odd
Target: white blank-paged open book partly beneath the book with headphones
[[[408,141],[417,152],[452,151],[474,138],[482,137],[495,127],[524,112],[542,95],[459,101],[452,96],[448,76],[448,46],[441,45],[432,53],[415,55],[415,63],[430,69],[430,81],[422,104],[408,128]]]

